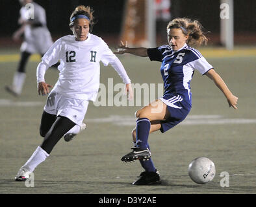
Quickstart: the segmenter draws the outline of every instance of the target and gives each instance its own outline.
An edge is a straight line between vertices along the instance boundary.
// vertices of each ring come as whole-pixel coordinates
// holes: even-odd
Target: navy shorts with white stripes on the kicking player
[[[170,112],[170,118],[160,122],[160,131],[162,133],[168,131],[186,118],[191,109],[191,104],[186,100],[187,97],[183,94],[168,93],[159,98],[167,105],[167,109]]]

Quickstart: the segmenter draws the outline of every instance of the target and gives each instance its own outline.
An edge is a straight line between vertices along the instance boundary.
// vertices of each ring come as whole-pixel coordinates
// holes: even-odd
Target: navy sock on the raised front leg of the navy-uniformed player
[[[148,118],[138,118],[136,121],[136,143],[141,149],[147,149],[151,123]]]

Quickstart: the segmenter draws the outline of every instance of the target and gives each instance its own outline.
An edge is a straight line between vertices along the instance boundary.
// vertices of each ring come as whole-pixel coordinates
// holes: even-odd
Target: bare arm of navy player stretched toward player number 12
[[[130,48],[127,47],[127,42],[125,45],[121,41],[121,44],[118,46],[118,49],[114,54],[125,54],[125,53],[130,53],[134,54],[135,56],[140,56],[140,57],[147,57],[147,49],[145,47],[136,47],[136,48]]]

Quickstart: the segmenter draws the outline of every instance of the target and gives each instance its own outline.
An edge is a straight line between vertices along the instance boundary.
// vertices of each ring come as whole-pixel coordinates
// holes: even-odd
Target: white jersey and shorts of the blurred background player
[[[32,3],[33,16],[31,10],[22,6],[19,10],[20,18],[23,21],[31,21],[32,25],[25,25],[24,42],[21,45],[21,51],[44,54],[53,44],[51,34],[46,27],[46,15],[42,6]]]

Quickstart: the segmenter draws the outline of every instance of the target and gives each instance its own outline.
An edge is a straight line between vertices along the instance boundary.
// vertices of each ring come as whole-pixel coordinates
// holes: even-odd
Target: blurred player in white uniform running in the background
[[[17,71],[14,73],[11,86],[6,86],[8,93],[19,96],[23,89],[26,73],[25,66],[31,54],[40,54],[43,56],[51,47],[53,41],[51,34],[46,26],[45,10],[42,6],[34,3],[32,0],[19,0],[22,7],[19,10],[19,25],[21,27],[14,32],[13,39],[18,41],[24,34],[24,41],[21,44],[21,57]],[[57,67],[58,63],[53,65]]]

